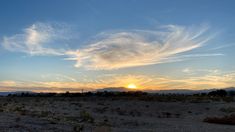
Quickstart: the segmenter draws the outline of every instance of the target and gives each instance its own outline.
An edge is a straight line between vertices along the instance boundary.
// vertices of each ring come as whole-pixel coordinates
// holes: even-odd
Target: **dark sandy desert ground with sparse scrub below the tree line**
[[[156,102],[92,97],[1,97],[0,131],[234,132],[203,122],[235,102]]]

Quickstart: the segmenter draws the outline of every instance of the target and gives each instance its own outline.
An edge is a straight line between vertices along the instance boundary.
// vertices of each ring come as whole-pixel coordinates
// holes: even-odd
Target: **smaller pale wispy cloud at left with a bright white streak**
[[[23,33],[3,37],[3,47],[9,51],[30,55],[63,55],[64,50],[52,48],[52,43],[66,39],[67,27],[62,24],[35,23]],[[51,46],[51,47],[50,47]]]

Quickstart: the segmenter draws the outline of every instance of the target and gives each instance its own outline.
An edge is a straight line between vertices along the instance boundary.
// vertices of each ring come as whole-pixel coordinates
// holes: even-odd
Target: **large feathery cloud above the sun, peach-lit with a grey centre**
[[[202,47],[210,39],[210,36],[204,35],[207,29],[206,26],[186,28],[168,25],[158,31],[102,33],[99,39],[87,44],[88,46],[76,51],[67,51],[67,60],[75,60],[76,67],[92,70],[181,61],[181,57],[172,57]]]

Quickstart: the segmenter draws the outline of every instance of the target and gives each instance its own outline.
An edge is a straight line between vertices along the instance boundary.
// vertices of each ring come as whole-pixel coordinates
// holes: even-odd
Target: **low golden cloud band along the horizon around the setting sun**
[[[202,71],[201,69],[200,71]],[[203,70],[205,74],[191,77],[168,77],[160,75],[108,75],[89,81],[57,80],[57,81],[0,81],[2,91],[34,91],[34,92],[80,92],[105,87],[126,87],[130,83],[139,90],[168,89],[210,89],[226,88],[235,85],[235,71],[227,73],[219,70]]]

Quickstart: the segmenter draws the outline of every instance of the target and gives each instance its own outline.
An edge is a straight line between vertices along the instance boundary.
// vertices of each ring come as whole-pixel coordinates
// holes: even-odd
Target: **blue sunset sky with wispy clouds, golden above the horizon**
[[[233,0],[2,0],[0,91],[235,86]]]

